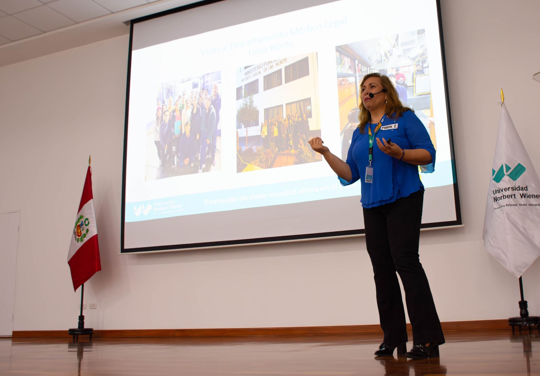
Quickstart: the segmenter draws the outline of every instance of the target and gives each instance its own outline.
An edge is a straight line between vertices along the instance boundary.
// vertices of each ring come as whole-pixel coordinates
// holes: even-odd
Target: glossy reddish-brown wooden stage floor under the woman
[[[0,339],[0,375],[540,375],[536,330],[445,336],[433,360],[374,359],[379,334]]]

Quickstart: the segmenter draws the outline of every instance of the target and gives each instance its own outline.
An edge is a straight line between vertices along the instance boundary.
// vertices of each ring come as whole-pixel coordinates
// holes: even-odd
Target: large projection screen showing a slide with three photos
[[[422,227],[461,225],[436,0],[225,0],[131,23],[123,253],[363,234],[307,141],[346,158],[359,84],[387,74],[437,150]]]

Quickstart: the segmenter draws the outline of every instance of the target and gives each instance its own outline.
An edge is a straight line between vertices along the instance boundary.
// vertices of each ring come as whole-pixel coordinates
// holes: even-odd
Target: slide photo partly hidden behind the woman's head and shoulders
[[[360,81],[366,74],[388,76],[404,106],[412,108],[437,148],[424,29],[361,40],[336,47],[341,159],[346,160],[359,125]]]

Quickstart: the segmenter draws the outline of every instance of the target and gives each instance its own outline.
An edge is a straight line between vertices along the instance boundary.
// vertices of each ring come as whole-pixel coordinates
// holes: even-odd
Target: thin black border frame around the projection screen
[[[329,231],[326,233],[313,233],[313,234],[298,234],[298,235],[286,235],[286,236],[271,236],[271,237],[259,237],[259,238],[249,238],[249,239],[239,239],[239,240],[229,240],[229,241],[215,241],[215,242],[199,242],[199,243],[188,243],[188,244],[172,244],[172,245],[158,245],[153,247],[138,247],[138,248],[128,248],[124,247],[124,236],[125,236],[125,197],[126,197],[126,164],[127,164],[127,126],[129,123],[129,105],[130,105],[130,83],[131,83],[131,56],[133,51],[133,26],[134,24],[144,22],[153,18],[159,18],[173,13],[182,12],[188,9],[198,8],[199,6],[210,5],[218,2],[224,2],[228,0],[203,0],[200,2],[187,4],[179,6],[178,8],[173,8],[152,15],[139,17],[131,20],[130,22],[130,39],[129,39],[129,55],[127,57],[127,81],[126,81],[126,106],[125,106],[125,118],[124,118],[124,156],[122,164],[122,203],[120,208],[120,254],[138,254],[138,253],[153,253],[153,252],[166,252],[166,251],[181,251],[181,250],[192,250],[192,249],[208,249],[208,248],[223,248],[223,247],[235,247],[241,245],[255,245],[255,244],[272,244],[272,243],[286,243],[286,242],[299,242],[299,241],[309,241],[309,240],[323,240],[323,239],[333,239],[333,238],[343,238],[343,237],[354,237],[354,236],[363,236],[365,235],[365,229],[357,230],[344,230],[344,231]],[[457,169],[456,169],[456,160],[455,160],[455,150],[454,150],[454,135],[452,129],[452,121],[450,114],[450,94],[448,91],[448,75],[446,69],[446,54],[444,52],[444,38],[443,38],[443,28],[442,28],[442,16],[441,16],[441,3],[440,0],[435,0],[437,8],[437,23],[439,30],[439,39],[441,44],[441,61],[442,61],[442,71],[443,71],[443,84],[444,84],[444,93],[446,94],[446,110],[448,114],[448,136],[450,141],[450,161],[452,165],[452,174],[454,177],[454,204],[456,210],[456,220],[455,221],[445,221],[445,222],[430,222],[422,223],[421,230],[435,230],[442,228],[457,228],[463,227],[462,217],[461,217],[461,207],[460,207],[460,195],[457,185]]]

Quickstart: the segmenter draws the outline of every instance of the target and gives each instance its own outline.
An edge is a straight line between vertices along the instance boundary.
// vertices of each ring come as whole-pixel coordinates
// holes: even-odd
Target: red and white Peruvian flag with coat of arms
[[[71,235],[68,264],[71,269],[71,279],[75,291],[80,285],[88,281],[95,272],[101,270],[90,166],[86,171],[83,196],[80,197],[79,211]]]

